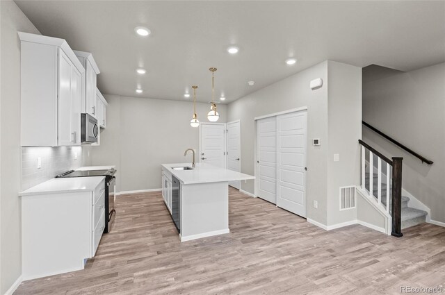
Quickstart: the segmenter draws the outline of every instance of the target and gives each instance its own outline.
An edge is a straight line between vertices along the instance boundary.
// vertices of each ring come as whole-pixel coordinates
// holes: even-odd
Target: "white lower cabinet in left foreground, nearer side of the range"
[[[104,188],[22,196],[24,280],[83,269],[104,232]]]

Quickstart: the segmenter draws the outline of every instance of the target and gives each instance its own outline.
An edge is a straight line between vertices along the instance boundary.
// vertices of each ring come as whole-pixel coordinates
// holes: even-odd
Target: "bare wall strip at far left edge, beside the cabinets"
[[[13,1],[0,1],[1,10],[1,191],[0,294],[22,274],[20,226],[20,42],[17,31],[38,34],[37,28]]]

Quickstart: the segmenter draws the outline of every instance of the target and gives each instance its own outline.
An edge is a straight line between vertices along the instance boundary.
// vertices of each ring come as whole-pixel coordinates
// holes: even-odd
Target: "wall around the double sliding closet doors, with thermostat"
[[[322,78],[323,87],[311,90],[309,82]],[[307,106],[307,203],[318,201],[318,209],[309,205],[307,217],[326,224],[327,193],[327,62],[285,78],[249,94],[227,106],[227,121],[241,121],[241,172],[254,175],[254,150],[257,131],[254,117]],[[320,138],[321,146],[312,139]],[[254,181],[241,182],[241,189],[254,193]]]

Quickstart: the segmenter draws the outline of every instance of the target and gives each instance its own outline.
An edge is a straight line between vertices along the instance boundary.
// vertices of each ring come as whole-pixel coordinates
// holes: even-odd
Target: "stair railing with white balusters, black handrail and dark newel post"
[[[391,214],[392,228],[391,235],[402,237],[402,160],[400,157],[393,157],[392,160],[374,149],[366,142],[359,140],[362,146],[362,189],[377,199],[377,203],[385,207],[388,214]],[[374,183],[374,155],[377,161],[377,183]],[[369,179],[366,185],[366,158],[369,162]],[[382,166],[385,167],[385,183],[382,179]],[[391,177],[391,175],[392,177]],[[392,184],[392,185],[391,185]],[[377,196],[374,194],[376,185]],[[385,185],[385,193],[382,194],[382,186]],[[391,193],[390,188],[391,187]],[[383,199],[382,199],[383,198]],[[390,210],[391,208],[391,210]]]

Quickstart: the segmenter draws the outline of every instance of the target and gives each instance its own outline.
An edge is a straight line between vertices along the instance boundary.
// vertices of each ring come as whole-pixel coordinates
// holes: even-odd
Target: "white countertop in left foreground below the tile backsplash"
[[[19,196],[38,194],[60,194],[65,192],[92,192],[104,180],[104,176],[52,178],[40,185],[35,185],[19,192]]]

